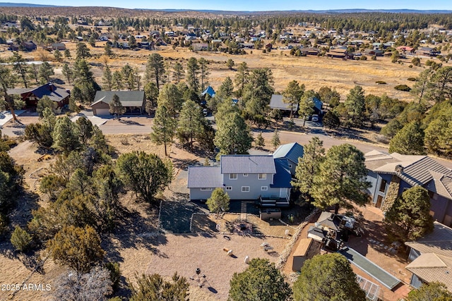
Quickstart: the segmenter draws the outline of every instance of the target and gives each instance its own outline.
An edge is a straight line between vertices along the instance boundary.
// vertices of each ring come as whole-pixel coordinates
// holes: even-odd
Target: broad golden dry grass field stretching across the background
[[[92,63],[92,70],[98,83],[102,84],[103,66],[105,66],[105,59],[102,57],[105,42],[96,42],[96,47],[90,47],[93,58],[89,59]],[[76,44],[67,42],[66,47],[70,49],[72,58],[67,60],[69,63],[74,60],[76,53]],[[126,49],[113,49],[114,56],[107,59],[107,65],[112,71],[119,70],[126,63],[129,63],[133,68],[138,68],[142,78],[145,72],[145,64],[147,58],[154,51],[141,49],[139,51],[132,51]],[[226,66],[227,59],[232,59],[234,63],[239,64],[246,62],[249,68],[270,68],[273,72],[274,88],[277,92],[282,92],[285,86],[291,80],[297,80],[304,84],[307,90],[319,90],[322,86],[332,87],[340,92],[342,99],[345,99],[347,93],[355,87],[361,85],[366,94],[388,94],[389,97],[398,98],[405,102],[410,102],[412,97],[408,92],[400,92],[394,90],[396,85],[406,84],[412,86],[412,82],[408,78],[415,78],[424,70],[424,66],[409,68],[410,60],[403,59],[401,63],[391,63],[391,59],[386,57],[378,57],[376,61],[353,61],[342,59],[329,59],[326,57],[307,56],[297,57],[291,56],[289,50],[273,49],[270,53],[263,54],[261,50],[253,49],[247,50],[245,55],[224,54],[220,52],[208,51],[189,51],[188,48],[177,47],[172,49],[172,46],[157,47],[157,53],[165,58],[167,68],[171,70],[172,65],[179,61],[182,64],[186,63],[191,56],[197,59],[203,57],[209,61],[209,80],[210,85],[214,89],[221,85],[227,76],[234,78],[236,71],[230,70]],[[252,52],[252,54],[251,54]],[[11,56],[11,52],[5,51],[0,53],[0,57],[6,58]],[[47,51],[35,51],[32,53],[23,53],[27,59],[41,60],[43,56],[52,60],[53,55]],[[436,59],[434,59],[436,60]],[[422,63],[427,61],[422,59]],[[53,62],[55,76],[64,79],[61,75],[61,66],[63,63]],[[452,66],[452,63],[447,63]],[[171,72],[169,72],[171,74]],[[384,81],[387,85],[377,85],[376,81]],[[70,85],[66,85],[70,88]]]

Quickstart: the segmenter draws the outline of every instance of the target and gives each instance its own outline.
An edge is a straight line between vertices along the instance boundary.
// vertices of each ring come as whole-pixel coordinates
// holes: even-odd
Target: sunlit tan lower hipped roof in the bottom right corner
[[[448,290],[452,290],[452,258],[434,253],[421,254],[406,266],[422,280],[427,282],[439,281],[444,283]]]

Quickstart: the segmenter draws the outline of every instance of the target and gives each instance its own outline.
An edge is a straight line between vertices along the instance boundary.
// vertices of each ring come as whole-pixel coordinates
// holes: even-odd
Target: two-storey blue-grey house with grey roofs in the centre
[[[189,166],[191,200],[208,199],[222,188],[231,199],[254,199],[270,206],[288,206],[290,168],[287,159],[271,155],[223,155],[220,166]]]

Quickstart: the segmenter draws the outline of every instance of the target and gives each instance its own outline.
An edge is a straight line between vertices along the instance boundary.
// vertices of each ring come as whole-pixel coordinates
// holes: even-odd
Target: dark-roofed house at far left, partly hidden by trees
[[[61,108],[65,104],[69,104],[69,97],[71,96],[69,90],[57,87],[53,82],[34,88],[8,89],[7,92],[10,95],[20,95],[20,98],[25,102],[25,108],[32,110],[36,109],[37,102],[42,97],[49,97]]]

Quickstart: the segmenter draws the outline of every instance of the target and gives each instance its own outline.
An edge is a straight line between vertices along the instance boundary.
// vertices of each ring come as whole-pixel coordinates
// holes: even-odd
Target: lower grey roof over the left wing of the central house
[[[187,188],[223,187],[220,166],[189,166]]]

